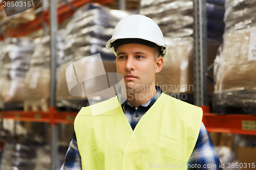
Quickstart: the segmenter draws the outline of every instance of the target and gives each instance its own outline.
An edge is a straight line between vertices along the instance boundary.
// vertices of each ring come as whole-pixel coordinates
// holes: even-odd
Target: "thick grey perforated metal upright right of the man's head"
[[[208,107],[206,0],[194,0],[194,101]]]

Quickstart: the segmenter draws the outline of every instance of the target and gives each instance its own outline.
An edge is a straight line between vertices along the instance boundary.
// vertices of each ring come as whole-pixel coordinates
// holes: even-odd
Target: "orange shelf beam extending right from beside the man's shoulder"
[[[255,125],[256,128],[256,116],[243,114],[218,115],[214,113],[203,113],[203,123],[208,132],[256,135],[256,129],[253,127],[253,130],[243,130],[242,121],[249,121],[251,123],[251,127]]]

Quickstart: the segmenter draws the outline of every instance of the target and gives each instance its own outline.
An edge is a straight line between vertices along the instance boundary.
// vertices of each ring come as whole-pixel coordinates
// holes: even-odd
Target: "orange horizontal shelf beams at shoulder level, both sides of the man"
[[[0,118],[11,118],[24,122],[44,122],[54,124],[74,124],[78,112],[23,112],[16,110],[0,111]],[[243,124],[250,123],[251,130],[245,130]],[[255,122],[255,123],[253,123]],[[208,132],[236,133],[256,135],[256,116],[242,114],[218,115],[203,113],[203,123]],[[254,129],[254,130],[253,130]]]

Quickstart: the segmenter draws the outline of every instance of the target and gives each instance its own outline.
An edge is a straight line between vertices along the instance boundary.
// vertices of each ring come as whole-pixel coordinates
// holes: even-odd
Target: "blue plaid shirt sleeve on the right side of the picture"
[[[214,144],[203,123],[194,151],[187,162],[187,169],[222,170]]]

